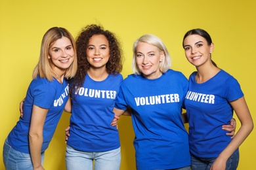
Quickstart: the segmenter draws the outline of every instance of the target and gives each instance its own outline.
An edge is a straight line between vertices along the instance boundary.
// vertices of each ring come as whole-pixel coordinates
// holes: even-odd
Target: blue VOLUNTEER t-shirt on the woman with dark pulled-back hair
[[[184,105],[188,115],[190,152],[202,158],[213,158],[232,140],[222,129],[230,124],[233,109],[229,104],[243,97],[238,81],[221,70],[213,78],[198,84],[197,72],[189,78]]]

